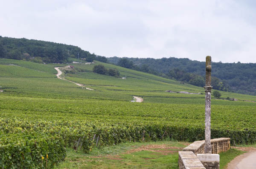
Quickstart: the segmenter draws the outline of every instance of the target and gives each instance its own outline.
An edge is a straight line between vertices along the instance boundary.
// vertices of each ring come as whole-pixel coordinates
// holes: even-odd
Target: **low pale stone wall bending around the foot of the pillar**
[[[212,146],[212,154],[225,152],[230,149],[230,138],[211,139],[211,146]],[[204,154],[204,140],[195,141],[189,146],[186,146],[183,149],[183,151],[179,152],[179,161],[178,161],[179,169],[191,169],[191,167],[195,169],[218,169],[219,159],[217,160],[218,162],[215,160],[200,161],[197,157],[197,154],[198,155]]]

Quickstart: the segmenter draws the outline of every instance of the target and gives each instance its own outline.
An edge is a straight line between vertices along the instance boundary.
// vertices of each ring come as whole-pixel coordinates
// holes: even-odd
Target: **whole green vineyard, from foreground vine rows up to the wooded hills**
[[[120,68],[121,78],[74,65],[65,79],[54,66],[0,59],[0,167],[54,168],[66,148],[85,153],[121,142],[204,139],[204,89]],[[166,90],[203,94],[168,93]],[[212,138],[256,142],[256,97],[221,92],[212,100]],[[141,96],[143,103],[132,103]]]

